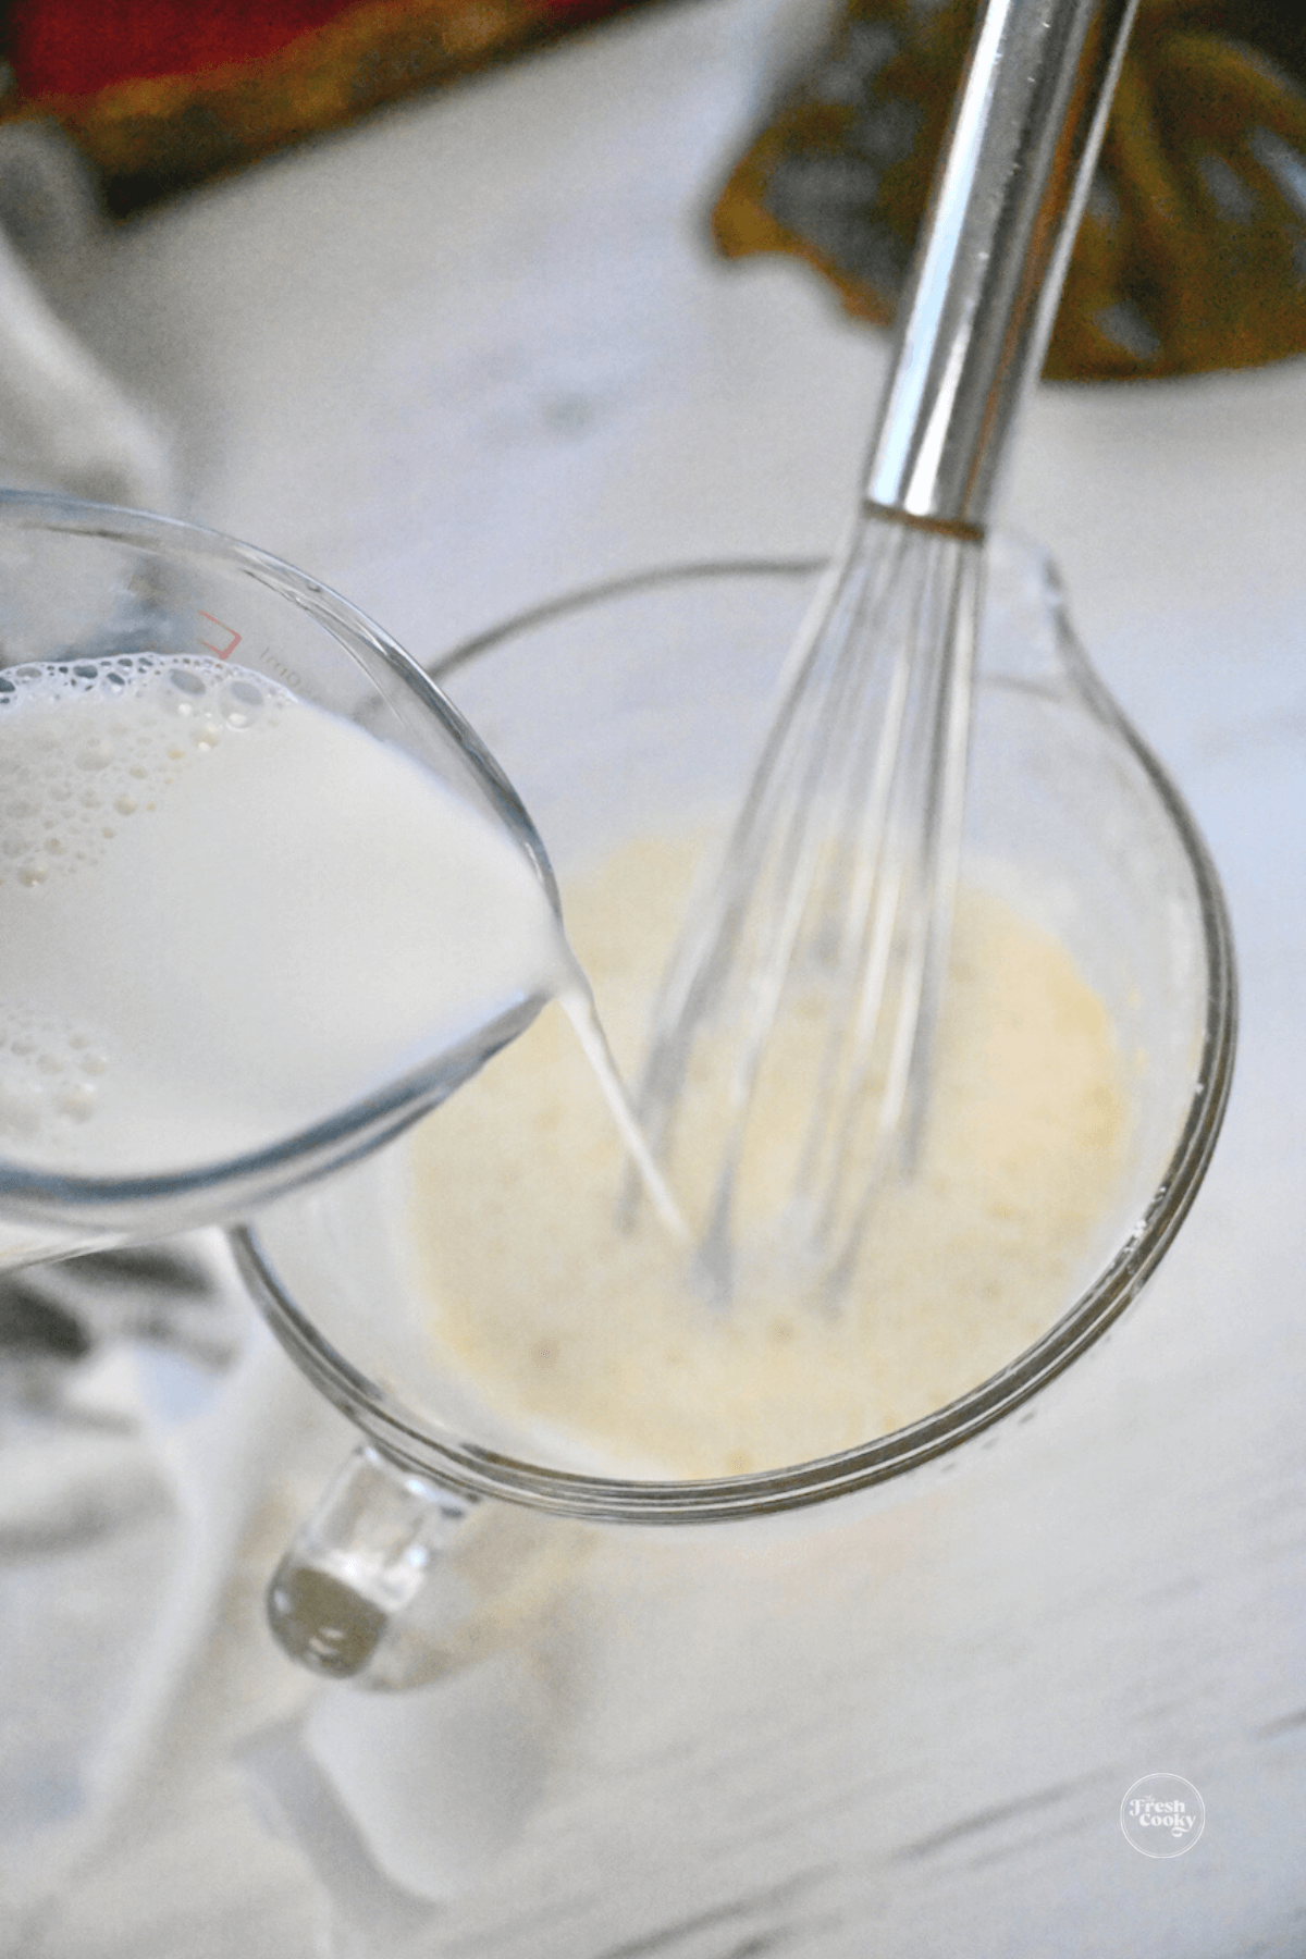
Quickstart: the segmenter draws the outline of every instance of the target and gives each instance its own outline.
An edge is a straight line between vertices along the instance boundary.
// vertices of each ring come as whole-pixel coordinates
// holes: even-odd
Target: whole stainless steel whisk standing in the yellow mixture
[[[863,500],[672,960],[636,1103],[697,1264],[838,1297],[910,1164],[948,964],[985,521],[1042,364],[1136,0],[987,0]],[[795,1105],[793,1085],[801,1083]]]

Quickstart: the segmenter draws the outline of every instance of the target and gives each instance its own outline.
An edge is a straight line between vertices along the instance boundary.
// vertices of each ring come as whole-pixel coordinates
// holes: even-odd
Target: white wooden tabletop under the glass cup
[[[703,247],[770,18],[632,16],[112,239],[67,306],[172,419],[184,513],[421,656],[621,566],[832,541],[883,347],[797,266]],[[570,1710],[544,1800],[376,1951],[1306,1947],[1304,460],[1294,362],[1044,392],[1012,484],[1239,938],[1228,1128],[1147,1303],[1055,1424],[928,1501],[756,1550],[599,1542],[533,1642]],[[319,1949],[231,1747],[302,1698],[257,1589],[333,1446],[323,1418],[288,1457],[159,1775],[33,1959]],[[1153,1861],[1118,1806],[1161,1769],[1206,1830]]]

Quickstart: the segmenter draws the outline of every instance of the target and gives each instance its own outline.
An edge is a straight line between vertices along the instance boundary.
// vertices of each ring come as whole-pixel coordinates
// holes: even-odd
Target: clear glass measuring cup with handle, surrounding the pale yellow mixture
[[[732,807],[813,576],[670,568],[542,607],[437,668],[564,876],[603,846]],[[566,1436],[505,1416],[441,1365],[386,1150],[235,1234],[272,1330],[364,1436],[270,1585],[294,1657],[392,1679],[403,1614],[476,1499],[681,1528],[832,1499],[848,1514],[952,1473],[1073,1379],[1202,1181],[1234,1062],[1234,950],[1183,801],[1083,658],[1055,574],[1010,541],[993,549],[981,643],[963,880],[981,872],[1069,948],[1132,1056],[1128,1162],[1063,1295],[1046,1301],[1048,1332],[946,1407],[820,1459],[703,1481],[595,1473]]]

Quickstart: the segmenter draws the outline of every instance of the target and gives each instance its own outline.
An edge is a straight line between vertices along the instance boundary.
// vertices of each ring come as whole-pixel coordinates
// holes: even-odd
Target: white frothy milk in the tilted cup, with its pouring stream
[[[554,995],[630,1134],[535,868],[435,774],[208,656],[0,674],[10,1160],[231,1160]]]

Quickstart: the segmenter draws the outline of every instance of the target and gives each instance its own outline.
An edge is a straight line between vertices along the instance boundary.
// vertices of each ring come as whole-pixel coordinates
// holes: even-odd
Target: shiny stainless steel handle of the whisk
[[[983,529],[1048,347],[1136,6],[981,6],[899,313],[869,503]]]

